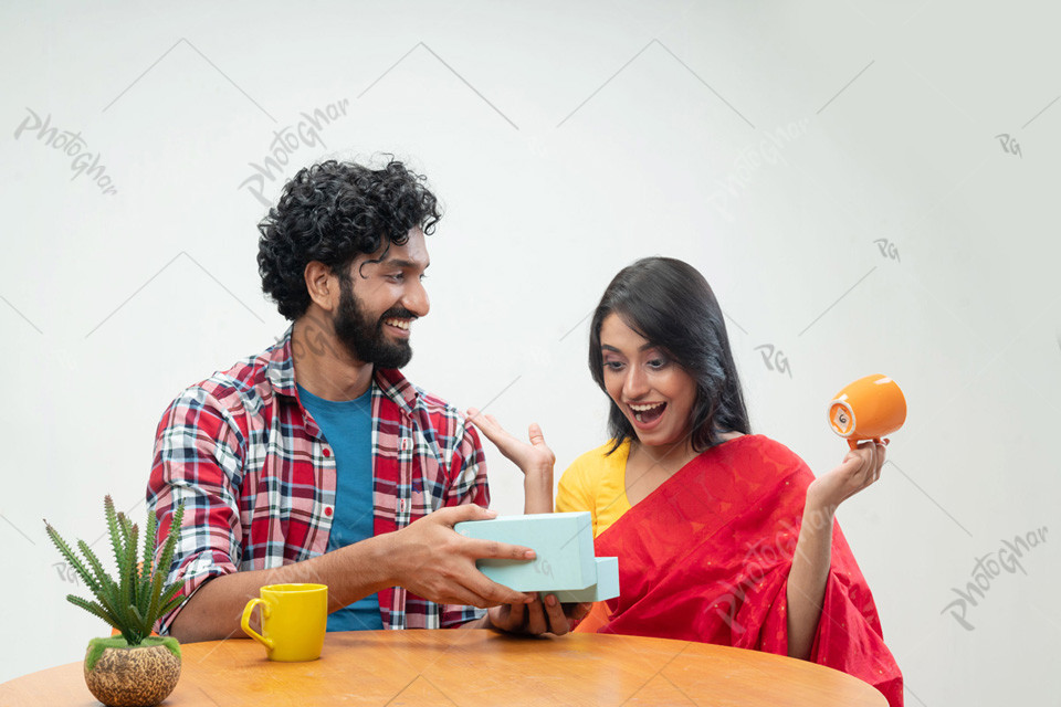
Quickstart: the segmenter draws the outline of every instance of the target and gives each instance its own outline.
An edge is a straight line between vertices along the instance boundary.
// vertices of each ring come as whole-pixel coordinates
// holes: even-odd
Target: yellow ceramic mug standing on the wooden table
[[[251,629],[254,606],[262,608],[262,633]],[[244,633],[265,646],[270,661],[316,661],[328,625],[326,584],[267,584],[246,602]],[[264,634],[264,635],[262,635]]]

